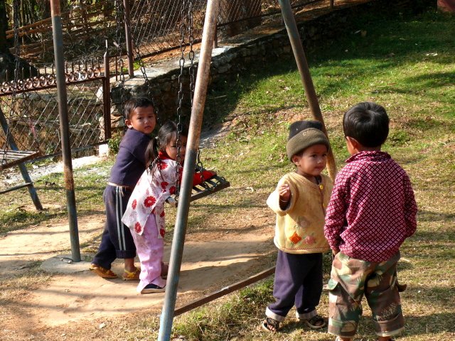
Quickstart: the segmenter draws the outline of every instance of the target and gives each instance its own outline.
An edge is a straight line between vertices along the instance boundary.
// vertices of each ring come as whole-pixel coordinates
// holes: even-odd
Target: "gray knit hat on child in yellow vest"
[[[327,149],[330,148],[327,136],[322,132],[320,121],[296,121],[289,126],[289,138],[286,144],[289,161],[292,156],[315,144],[323,144]]]

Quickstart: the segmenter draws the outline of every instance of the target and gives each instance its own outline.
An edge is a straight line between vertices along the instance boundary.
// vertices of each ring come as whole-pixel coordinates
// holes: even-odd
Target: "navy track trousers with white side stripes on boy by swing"
[[[134,258],[136,247],[129,228],[122,223],[124,210],[128,205],[132,190],[108,185],[103,193],[106,205],[105,229],[102,232],[101,244],[92,263],[111,269],[117,259]]]

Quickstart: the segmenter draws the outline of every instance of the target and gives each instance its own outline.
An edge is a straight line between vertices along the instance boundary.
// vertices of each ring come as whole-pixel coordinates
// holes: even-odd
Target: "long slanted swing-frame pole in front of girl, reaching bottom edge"
[[[202,126],[205,96],[207,94],[218,6],[219,0],[207,1],[202,43],[200,46],[198,75],[196,77],[193,108],[191,109],[190,127],[188,131],[188,143],[186,145],[185,165],[183,166],[182,186],[178,200],[176,227],[173,233],[171,260],[166,283],[166,295],[164,297],[164,306],[161,312],[158,335],[159,341],[168,341],[171,338],[173,313],[176,308],[178,278],[180,276],[180,267],[183,256],[183,244],[185,243],[186,223],[188,222],[191,188],[193,187],[193,174],[198,156],[200,128]]]

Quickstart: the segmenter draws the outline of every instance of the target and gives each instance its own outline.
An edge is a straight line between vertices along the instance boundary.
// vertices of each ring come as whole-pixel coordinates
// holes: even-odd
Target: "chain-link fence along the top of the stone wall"
[[[294,0],[291,6],[300,9],[314,0]],[[205,0],[193,0],[193,38],[200,40],[205,17]],[[142,56],[156,55],[177,48],[181,43],[183,1],[141,0],[134,1],[130,18],[132,40]],[[258,26],[265,16],[280,12],[276,0],[222,0],[217,28],[223,37],[235,36],[245,29]]]

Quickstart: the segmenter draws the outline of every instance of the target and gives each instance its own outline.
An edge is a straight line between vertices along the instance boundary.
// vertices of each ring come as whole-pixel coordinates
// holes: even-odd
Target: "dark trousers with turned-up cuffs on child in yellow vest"
[[[322,254],[278,251],[273,296],[268,309],[283,318],[295,305],[298,314],[311,313],[322,293]]]

